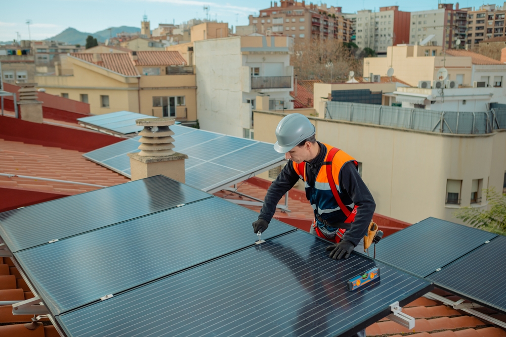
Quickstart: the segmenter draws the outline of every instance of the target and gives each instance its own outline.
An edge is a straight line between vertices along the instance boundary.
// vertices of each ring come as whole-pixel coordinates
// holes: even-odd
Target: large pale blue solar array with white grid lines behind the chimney
[[[284,161],[272,144],[198,130],[171,126],[174,149],[188,155],[186,183],[206,192],[215,192]],[[124,176],[131,177],[129,152],[139,152],[140,136],[88,152],[83,157]]]

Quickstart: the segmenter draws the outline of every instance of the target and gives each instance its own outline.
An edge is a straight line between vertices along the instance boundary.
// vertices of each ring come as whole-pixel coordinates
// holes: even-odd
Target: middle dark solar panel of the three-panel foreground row
[[[55,315],[254,244],[258,213],[212,197],[15,253]],[[262,238],[294,230],[277,220]],[[55,266],[57,266],[55,268]]]

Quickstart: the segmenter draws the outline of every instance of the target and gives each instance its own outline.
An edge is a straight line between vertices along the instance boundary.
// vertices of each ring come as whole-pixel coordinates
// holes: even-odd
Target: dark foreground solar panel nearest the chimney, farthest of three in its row
[[[205,198],[205,192],[154,176],[0,213],[0,236],[16,252]]]

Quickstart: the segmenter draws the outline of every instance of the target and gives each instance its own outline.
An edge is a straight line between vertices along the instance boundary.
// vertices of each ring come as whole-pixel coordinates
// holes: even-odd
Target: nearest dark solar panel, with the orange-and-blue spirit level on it
[[[72,337],[350,335],[432,288],[363,256],[331,260],[327,245],[290,232],[57,320]],[[346,280],[374,266],[380,280],[346,290]]]

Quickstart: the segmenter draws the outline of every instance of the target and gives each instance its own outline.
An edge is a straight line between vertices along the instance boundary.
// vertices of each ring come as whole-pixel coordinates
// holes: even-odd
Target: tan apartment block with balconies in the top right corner
[[[469,11],[466,49],[477,51],[481,41],[505,36],[504,14],[506,8],[495,5],[483,5],[477,11]]]

